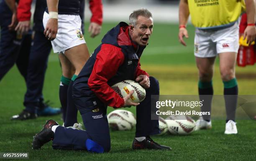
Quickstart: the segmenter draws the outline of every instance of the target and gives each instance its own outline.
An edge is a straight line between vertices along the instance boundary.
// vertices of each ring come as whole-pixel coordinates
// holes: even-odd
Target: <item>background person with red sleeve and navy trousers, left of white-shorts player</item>
[[[31,3],[32,0],[20,0],[17,8],[18,25],[15,30],[21,35],[31,30]],[[14,115],[12,120],[34,119],[38,116],[59,114],[59,108],[52,108],[44,102],[43,86],[47,68],[51,42],[44,37],[43,14],[46,8],[45,0],[37,0],[33,20],[33,40],[28,59],[26,87],[24,98],[26,107],[20,114]]]

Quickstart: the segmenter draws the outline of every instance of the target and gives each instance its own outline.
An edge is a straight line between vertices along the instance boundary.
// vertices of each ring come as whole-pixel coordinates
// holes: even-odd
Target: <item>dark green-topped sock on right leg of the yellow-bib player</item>
[[[238,99],[238,86],[236,78],[231,79],[230,81],[224,83],[224,98],[225,98],[225,107],[226,107],[226,123],[229,120],[235,121],[236,118],[236,106]]]

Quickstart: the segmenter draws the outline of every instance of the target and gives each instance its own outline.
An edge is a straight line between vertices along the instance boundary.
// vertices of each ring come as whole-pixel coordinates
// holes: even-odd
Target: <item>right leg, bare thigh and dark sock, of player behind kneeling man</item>
[[[72,77],[72,81],[69,84],[68,94],[67,94],[67,114],[65,118],[65,127],[73,126],[74,123],[77,123],[77,108],[74,106],[72,99],[72,86],[77,75],[81,71],[82,67],[86,63],[87,59],[90,57],[87,45],[81,44],[75,47],[72,47],[65,51],[65,56],[69,59],[71,64],[75,68],[75,73]]]

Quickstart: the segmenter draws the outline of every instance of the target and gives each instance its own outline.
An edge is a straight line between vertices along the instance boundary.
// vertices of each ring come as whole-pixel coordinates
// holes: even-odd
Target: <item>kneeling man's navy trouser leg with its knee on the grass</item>
[[[54,149],[87,149],[90,152],[108,152],[110,151],[110,133],[107,119],[107,107],[87,106],[84,98],[74,99],[86,131],[59,126],[54,134]],[[99,111],[92,110],[99,108]],[[94,149],[93,147],[96,147]],[[94,151],[93,151],[94,150]]]

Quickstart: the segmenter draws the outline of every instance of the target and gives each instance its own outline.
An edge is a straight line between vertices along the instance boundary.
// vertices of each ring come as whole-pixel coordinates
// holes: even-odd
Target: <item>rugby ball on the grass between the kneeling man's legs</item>
[[[131,130],[136,126],[136,117],[130,111],[117,109],[108,114],[108,125],[114,131]]]

